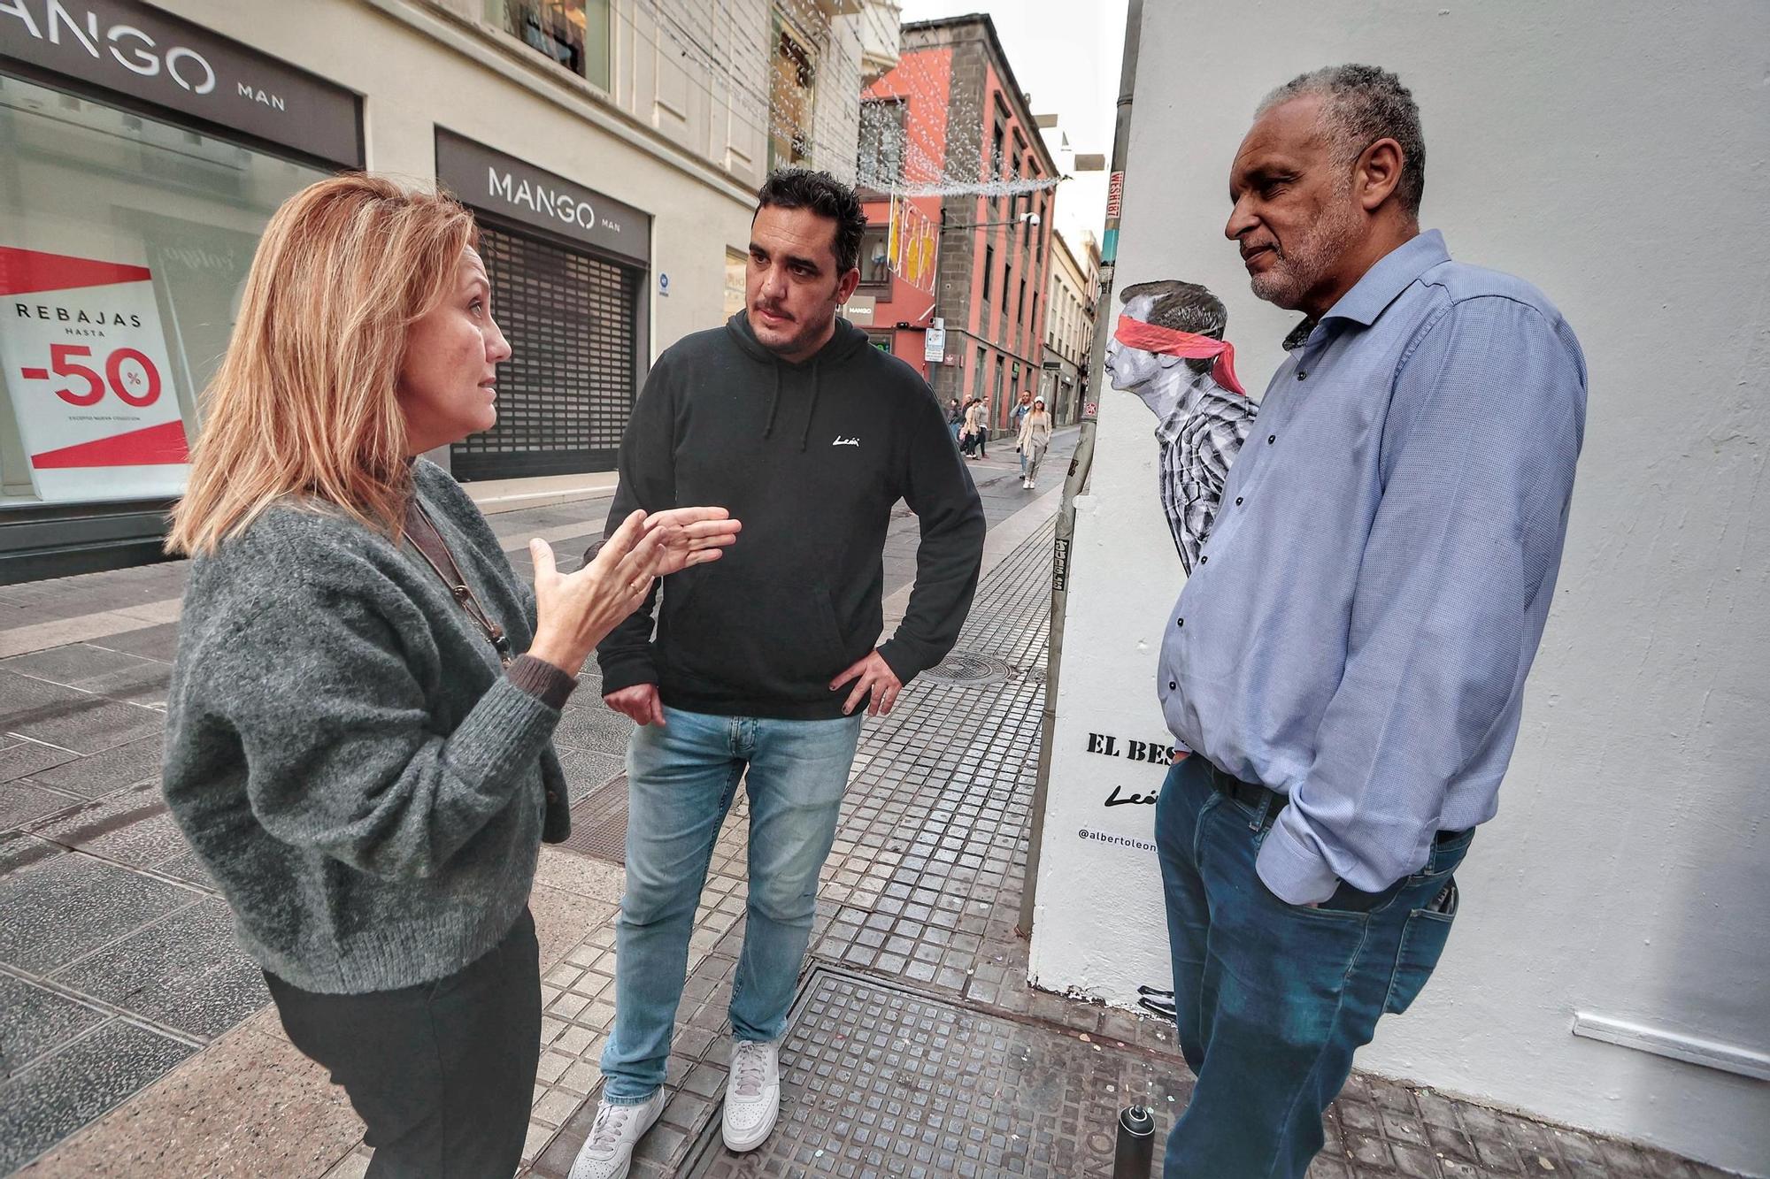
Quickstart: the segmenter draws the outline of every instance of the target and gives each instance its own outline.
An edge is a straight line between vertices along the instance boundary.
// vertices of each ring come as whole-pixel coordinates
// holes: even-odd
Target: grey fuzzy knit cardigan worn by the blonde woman
[[[535,598],[441,467],[418,496],[512,650]],[[573,669],[575,671],[575,669]],[[556,669],[504,673],[435,572],[278,505],[191,563],[165,795],[271,974],[320,993],[446,977],[510,931],[570,811]]]

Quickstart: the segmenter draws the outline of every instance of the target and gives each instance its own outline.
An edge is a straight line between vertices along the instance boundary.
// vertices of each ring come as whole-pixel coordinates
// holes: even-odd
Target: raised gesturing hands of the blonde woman
[[[531,540],[536,625],[529,655],[577,674],[596,644],[639,609],[657,577],[717,561],[738,528],[724,508],[634,512],[575,574],[561,574],[552,547]]]

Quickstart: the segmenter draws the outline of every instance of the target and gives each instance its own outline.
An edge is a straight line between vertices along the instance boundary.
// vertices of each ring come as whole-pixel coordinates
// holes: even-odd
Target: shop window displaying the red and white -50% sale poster
[[[182,494],[258,235],[327,173],[12,76],[0,143],[0,505]]]

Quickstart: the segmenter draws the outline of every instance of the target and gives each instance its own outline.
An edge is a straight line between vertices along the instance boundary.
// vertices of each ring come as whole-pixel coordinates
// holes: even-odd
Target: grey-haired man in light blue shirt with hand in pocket
[[[1181,1046],[1166,1179],[1301,1179],[1437,965],[1554,595],[1586,365],[1535,287],[1420,232],[1407,89],[1274,90],[1230,172],[1253,292],[1304,313],[1168,620],[1197,751],[1156,807]]]

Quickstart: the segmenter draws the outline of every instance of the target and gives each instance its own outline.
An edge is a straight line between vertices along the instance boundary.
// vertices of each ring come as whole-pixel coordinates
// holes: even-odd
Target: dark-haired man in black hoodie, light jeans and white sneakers
[[[724,559],[678,574],[598,650],[628,745],[627,894],[616,928],[604,1101],[572,1179],[618,1179],[657,1121],[689,935],[740,777],[749,913],[731,997],[724,1140],[773,1129],[777,1044],[811,938],[862,710],[889,713],[958,639],[984,515],[945,414],[903,361],[835,315],[860,280],[866,214],[821,172],[763,184],[745,310],[667,349],[621,441],[611,520],[710,503],[743,520]],[[883,628],[892,506],[920,517],[917,581]]]

